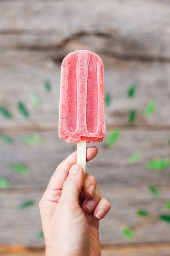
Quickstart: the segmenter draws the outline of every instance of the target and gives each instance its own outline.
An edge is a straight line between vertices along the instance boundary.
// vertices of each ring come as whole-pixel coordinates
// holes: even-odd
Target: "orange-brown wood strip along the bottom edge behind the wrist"
[[[145,244],[130,244],[130,245],[102,245],[102,250],[108,250],[111,252],[118,252],[121,251],[122,253],[126,253],[126,251],[133,251],[133,250],[158,250],[158,249],[164,249],[164,248],[170,248],[170,243],[145,243]],[[3,253],[3,254],[2,254]],[[45,253],[44,247],[25,247],[23,245],[0,245],[0,254],[1,255],[34,255],[41,253]]]

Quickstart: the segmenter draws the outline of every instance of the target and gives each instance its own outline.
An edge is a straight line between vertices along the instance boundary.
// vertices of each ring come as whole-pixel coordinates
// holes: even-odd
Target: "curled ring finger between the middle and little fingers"
[[[96,188],[93,199],[86,198],[83,202],[83,210],[87,213],[92,213],[101,199],[100,191]]]

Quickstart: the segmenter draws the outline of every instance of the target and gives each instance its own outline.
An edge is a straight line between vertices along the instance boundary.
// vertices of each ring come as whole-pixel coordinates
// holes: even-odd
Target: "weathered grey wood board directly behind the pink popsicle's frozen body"
[[[74,48],[75,50],[76,48]],[[0,115],[1,130],[27,127],[57,130],[59,115],[60,69],[61,63],[53,60],[56,52],[16,52],[2,53],[0,68],[1,105],[8,107],[13,119],[4,119]],[[102,56],[101,56],[102,57]],[[170,64],[159,62],[122,61],[103,55],[105,68],[105,91],[111,95],[111,105],[106,107],[108,129],[117,125],[127,125],[127,116],[131,109],[137,110],[134,125],[151,129],[170,127]],[[52,91],[44,88],[44,80],[50,79]],[[132,82],[137,83],[136,96],[127,98],[127,90]],[[34,107],[30,100],[36,92],[41,101]],[[23,101],[30,118],[24,118],[17,110],[17,101]],[[156,112],[145,117],[146,105],[155,100]]]

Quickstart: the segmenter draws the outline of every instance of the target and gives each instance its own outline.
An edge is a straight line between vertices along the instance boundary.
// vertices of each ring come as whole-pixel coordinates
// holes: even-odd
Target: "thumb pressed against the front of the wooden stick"
[[[83,169],[80,165],[72,165],[67,179],[62,187],[60,201],[78,202],[79,194],[83,186]]]

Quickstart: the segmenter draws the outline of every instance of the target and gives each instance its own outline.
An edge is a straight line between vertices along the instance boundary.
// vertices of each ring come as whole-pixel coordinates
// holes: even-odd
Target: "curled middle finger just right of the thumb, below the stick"
[[[96,189],[97,181],[94,176],[86,173],[85,174],[85,182],[83,183],[81,193],[86,198],[93,198],[95,189]]]

